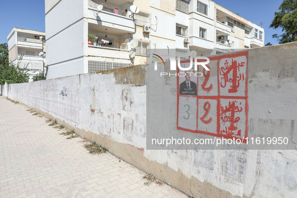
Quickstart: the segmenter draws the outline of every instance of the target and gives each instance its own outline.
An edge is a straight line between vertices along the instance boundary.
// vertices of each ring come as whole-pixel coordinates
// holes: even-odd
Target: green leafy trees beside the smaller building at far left
[[[20,63],[23,56],[18,61],[17,65],[9,63],[7,43],[0,45],[0,84],[23,83],[29,82],[29,74],[27,66],[20,68]]]

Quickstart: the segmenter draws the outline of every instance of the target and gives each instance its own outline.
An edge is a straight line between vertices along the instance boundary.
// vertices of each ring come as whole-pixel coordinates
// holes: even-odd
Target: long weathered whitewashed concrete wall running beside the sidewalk
[[[297,43],[246,52],[248,83],[239,92],[245,94],[248,88],[247,128],[249,133],[263,134],[289,131],[295,142],[297,58],[293,50],[285,54],[267,53],[267,49],[273,48],[297,49]],[[217,56],[211,58],[214,57]],[[217,60],[209,65],[211,71],[216,71]],[[189,133],[176,128],[176,77],[158,77],[158,72],[169,71],[168,63],[158,71],[151,68],[133,66],[11,84],[8,96],[57,119],[69,129],[74,128],[83,138],[103,144],[114,155],[194,197],[295,197],[296,150],[147,150],[146,137],[150,131],[146,129],[146,109],[151,107],[147,106],[147,98],[157,101],[153,107],[166,115],[156,125],[162,133],[176,136]],[[206,87],[214,84],[217,90],[217,76],[211,72]],[[152,89],[146,95],[148,87],[160,85],[164,91]],[[169,96],[169,100],[159,101],[162,94]],[[208,130],[218,133],[216,127]]]

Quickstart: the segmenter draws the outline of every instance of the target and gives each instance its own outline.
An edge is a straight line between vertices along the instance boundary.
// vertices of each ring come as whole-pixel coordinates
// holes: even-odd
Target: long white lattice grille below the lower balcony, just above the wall
[[[95,71],[104,71],[104,70],[117,69],[117,68],[130,67],[130,66],[132,66],[132,64],[89,60],[88,72],[90,73]]]

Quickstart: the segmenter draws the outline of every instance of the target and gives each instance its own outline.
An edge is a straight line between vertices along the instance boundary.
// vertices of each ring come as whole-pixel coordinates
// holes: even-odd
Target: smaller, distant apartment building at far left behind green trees
[[[27,66],[29,81],[32,81],[33,75],[43,71],[45,66],[45,32],[13,28],[7,40],[9,61],[15,65],[19,62],[20,68]]]

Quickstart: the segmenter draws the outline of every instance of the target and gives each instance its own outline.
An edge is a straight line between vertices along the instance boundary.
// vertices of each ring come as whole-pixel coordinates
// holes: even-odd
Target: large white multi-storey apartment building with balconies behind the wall
[[[47,79],[144,64],[153,49],[188,58],[264,45],[261,27],[210,0],[45,0],[45,14]]]

